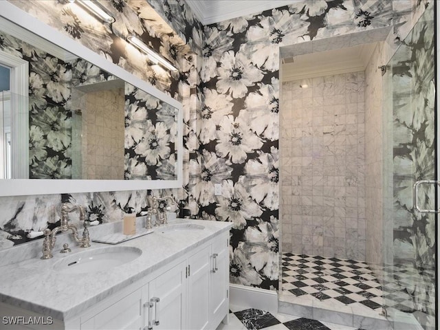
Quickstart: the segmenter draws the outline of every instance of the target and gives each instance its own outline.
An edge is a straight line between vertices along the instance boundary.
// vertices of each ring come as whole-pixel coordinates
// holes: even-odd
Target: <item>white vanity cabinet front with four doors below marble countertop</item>
[[[109,297],[80,317],[80,329],[217,328],[228,317],[228,239],[223,232],[148,283]]]

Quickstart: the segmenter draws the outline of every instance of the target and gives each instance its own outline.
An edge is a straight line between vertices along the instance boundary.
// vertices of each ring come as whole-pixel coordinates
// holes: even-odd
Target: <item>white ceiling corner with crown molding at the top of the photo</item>
[[[294,2],[295,0],[186,0],[203,25],[263,12]]]

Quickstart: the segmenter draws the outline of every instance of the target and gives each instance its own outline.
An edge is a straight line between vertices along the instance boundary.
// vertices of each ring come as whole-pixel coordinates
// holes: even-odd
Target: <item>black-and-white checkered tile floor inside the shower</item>
[[[349,259],[283,254],[285,295],[317,299],[338,306],[382,310],[382,287],[369,265]]]

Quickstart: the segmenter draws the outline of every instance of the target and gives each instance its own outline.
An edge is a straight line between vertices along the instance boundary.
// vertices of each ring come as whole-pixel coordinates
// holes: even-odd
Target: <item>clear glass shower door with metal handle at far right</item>
[[[435,329],[439,206],[434,47],[430,5],[383,77],[383,290],[386,316],[395,330]],[[421,180],[428,181],[417,184],[415,195]]]

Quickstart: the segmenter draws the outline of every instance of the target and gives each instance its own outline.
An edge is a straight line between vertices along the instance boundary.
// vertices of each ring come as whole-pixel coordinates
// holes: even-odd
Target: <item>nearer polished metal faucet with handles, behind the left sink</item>
[[[78,229],[76,225],[69,224],[69,213],[78,210],[80,213],[80,221],[83,221],[84,230],[83,230],[83,238],[78,238]],[[72,236],[74,236],[74,240],[76,243],[80,243],[81,248],[89,248],[90,247],[90,236],[89,230],[87,229],[87,224],[85,221],[85,212],[83,206],[72,206],[69,207],[67,203],[63,203],[61,206],[61,225],[54,228],[52,231],[50,229],[44,230],[44,241],[43,241],[43,256],[41,259],[51,259],[53,257],[52,250],[54,250],[55,242],[56,242],[56,234],[58,232],[67,232],[67,230],[72,230]],[[66,249],[65,249],[66,250]]]

